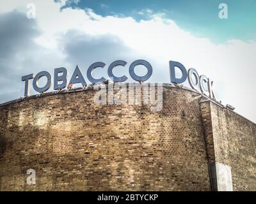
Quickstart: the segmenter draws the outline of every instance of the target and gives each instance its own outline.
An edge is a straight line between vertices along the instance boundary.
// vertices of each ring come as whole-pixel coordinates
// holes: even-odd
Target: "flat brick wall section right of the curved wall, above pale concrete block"
[[[231,167],[234,191],[256,191],[256,125],[211,101],[201,108],[209,162]]]

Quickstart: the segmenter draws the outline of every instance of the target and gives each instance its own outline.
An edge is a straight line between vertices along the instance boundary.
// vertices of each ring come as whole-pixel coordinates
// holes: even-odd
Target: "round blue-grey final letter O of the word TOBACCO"
[[[134,68],[137,65],[144,65],[147,68],[148,72],[147,72],[147,74],[145,76],[139,77],[138,75],[136,75],[136,73],[134,72]],[[131,78],[133,78],[137,82],[145,82],[145,81],[147,81],[148,78],[151,77],[152,72],[153,72],[153,70],[152,70],[151,64],[149,62],[143,60],[143,59],[139,59],[139,60],[136,60],[136,61],[132,62],[132,64],[129,67],[129,73],[131,75]]]

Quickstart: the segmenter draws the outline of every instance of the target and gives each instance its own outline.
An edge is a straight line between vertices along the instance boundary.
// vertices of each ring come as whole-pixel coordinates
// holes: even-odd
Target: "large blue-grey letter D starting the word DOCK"
[[[186,81],[186,78],[187,78],[187,70],[186,70],[186,68],[183,66],[183,64],[181,64],[180,62],[170,61],[170,62],[169,62],[169,66],[170,66],[171,83],[182,84],[183,82]],[[176,75],[175,75],[175,67],[179,68],[180,71],[182,72],[182,77],[181,77],[181,78],[176,78]]]

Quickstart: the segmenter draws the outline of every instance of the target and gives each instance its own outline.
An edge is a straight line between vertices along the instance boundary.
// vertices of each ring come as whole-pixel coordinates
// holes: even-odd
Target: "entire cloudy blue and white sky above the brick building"
[[[172,60],[211,78],[218,101],[256,122],[255,54],[256,0],[0,1],[0,103],[23,96],[24,75],[65,67],[70,77],[78,65],[88,82],[97,61],[145,59],[150,82],[170,83]],[[127,68],[114,73],[129,76]]]

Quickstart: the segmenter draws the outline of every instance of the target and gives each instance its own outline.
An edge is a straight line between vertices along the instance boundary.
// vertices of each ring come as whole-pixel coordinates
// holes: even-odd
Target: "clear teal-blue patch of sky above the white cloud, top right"
[[[216,18],[220,3],[228,5],[230,16],[227,20]],[[150,20],[158,14],[170,18],[177,25],[191,31],[195,36],[211,38],[215,43],[223,43],[233,38],[252,40],[256,38],[255,0],[84,0],[70,2],[67,8],[91,8],[106,17],[133,17],[136,20]]]

